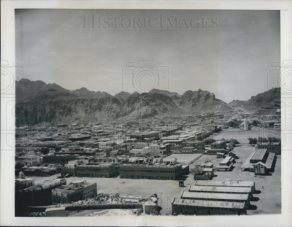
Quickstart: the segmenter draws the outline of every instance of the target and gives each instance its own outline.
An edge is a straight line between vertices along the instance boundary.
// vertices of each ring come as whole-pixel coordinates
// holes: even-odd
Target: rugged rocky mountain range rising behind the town
[[[126,117],[129,119],[149,117],[184,117],[194,112],[228,112],[241,109],[244,112],[273,114],[280,108],[280,89],[252,96],[246,101],[233,100],[231,103],[217,99],[208,91],[185,91],[182,95],[166,90],[152,89],[148,93],[119,92],[112,96],[106,92],[89,91],[82,87],[70,91],[57,84],[46,84],[40,80],[21,79],[15,82],[16,125],[21,119],[33,118],[41,122],[94,121]],[[251,108],[253,108],[251,110]],[[256,112],[254,109],[256,109]]]

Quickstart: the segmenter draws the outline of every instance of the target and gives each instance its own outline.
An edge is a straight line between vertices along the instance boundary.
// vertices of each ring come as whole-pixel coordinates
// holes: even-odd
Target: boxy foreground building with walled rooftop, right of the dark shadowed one
[[[63,185],[52,190],[52,204],[66,204],[88,197],[93,197],[97,193],[96,183],[88,183],[84,180],[78,180]]]

